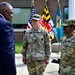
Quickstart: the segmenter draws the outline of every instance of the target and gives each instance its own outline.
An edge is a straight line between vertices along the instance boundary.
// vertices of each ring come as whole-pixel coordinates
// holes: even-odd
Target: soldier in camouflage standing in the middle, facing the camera
[[[50,45],[48,32],[40,26],[41,16],[34,14],[32,28],[25,32],[22,55],[26,59],[29,75],[43,75],[49,63]]]

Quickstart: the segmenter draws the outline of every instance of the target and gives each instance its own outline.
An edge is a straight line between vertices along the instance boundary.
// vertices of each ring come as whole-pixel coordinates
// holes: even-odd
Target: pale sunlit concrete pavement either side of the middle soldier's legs
[[[57,58],[60,58],[60,55],[57,55],[56,53],[51,53],[50,62],[45,69],[44,75],[59,75],[58,74],[59,65],[51,63],[52,59]],[[17,75],[29,75],[26,64],[22,63],[21,54],[16,54],[16,66],[17,66]]]

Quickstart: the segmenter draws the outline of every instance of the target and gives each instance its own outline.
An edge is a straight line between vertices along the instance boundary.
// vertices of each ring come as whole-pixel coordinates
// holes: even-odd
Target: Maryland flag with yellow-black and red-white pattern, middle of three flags
[[[48,32],[50,33],[50,36],[54,38],[54,32],[53,32],[54,25],[53,25],[53,21],[51,20],[51,16],[50,16],[47,5],[45,5],[44,7],[42,18],[40,20],[40,24],[46,30],[48,30]]]

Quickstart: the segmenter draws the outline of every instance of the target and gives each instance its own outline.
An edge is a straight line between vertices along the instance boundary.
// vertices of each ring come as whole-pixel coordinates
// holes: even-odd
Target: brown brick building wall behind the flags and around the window
[[[13,5],[13,7],[31,7],[32,5],[32,0],[0,0],[0,2],[3,1],[7,1],[9,3],[11,3],[11,5]],[[47,6],[48,9],[50,11],[50,15],[52,20],[54,20],[54,16],[57,10],[57,5],[58,5],[58,0],[48,0],[47,1]],[[64,6],[68,6],[68,0],[59,0],[60,1],[60,8],[61,8],[61,13],[62,16],[64,16],[63,14],[63,8]],[[43,13],[43,9],[45,6],[45,0],[34,0],[34,5],[35,5],[35,9],[36,9],[36,13],[42,15]],[[23,31],[15,31],[15,38],[16,38],[16,42],[21,42],[23,39]]]

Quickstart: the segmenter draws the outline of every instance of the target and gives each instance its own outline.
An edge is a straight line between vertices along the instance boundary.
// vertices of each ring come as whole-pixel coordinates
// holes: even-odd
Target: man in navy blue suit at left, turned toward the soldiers
[[[9,3],[0,3],[0,75],[16,75],[12,13],[13,7]]]

